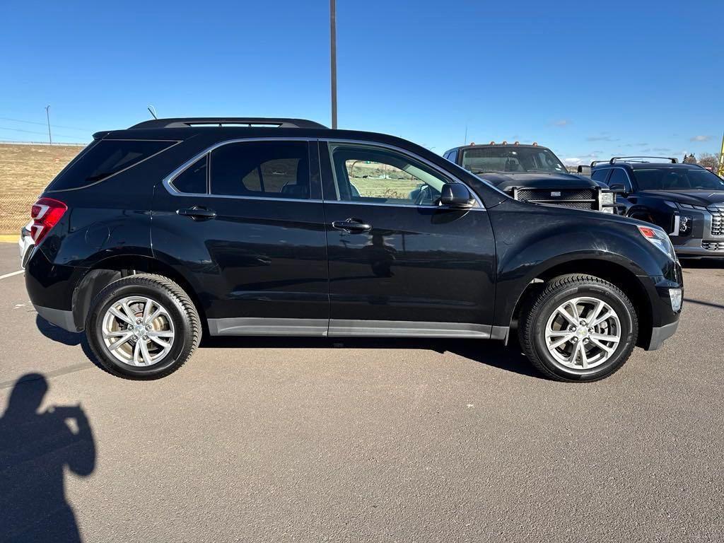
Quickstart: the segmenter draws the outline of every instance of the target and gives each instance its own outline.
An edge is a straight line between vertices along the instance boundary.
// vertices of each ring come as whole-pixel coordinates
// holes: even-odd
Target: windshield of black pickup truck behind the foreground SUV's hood
[[[473,174],[487,172],[565,173],[563,163],[542,147],[480,147],[463,150],[463,167]]]

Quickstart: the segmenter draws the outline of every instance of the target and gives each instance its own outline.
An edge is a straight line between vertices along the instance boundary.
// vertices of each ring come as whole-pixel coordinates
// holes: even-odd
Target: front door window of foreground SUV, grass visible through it
[[[420,162],[385,148],[330,144],[341,201],[437,205],[445,177]]]

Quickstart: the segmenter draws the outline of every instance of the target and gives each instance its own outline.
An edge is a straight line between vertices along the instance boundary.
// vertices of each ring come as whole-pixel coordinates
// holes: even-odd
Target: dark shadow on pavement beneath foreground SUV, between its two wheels
[[[517,340],[511,338],[508,347],[493,340],[420,339],[392,337],[205,337],[202,348],[233,349],[427,349],[437,353],[449,351],[470,360],[512,371],[536,379],[540,376],[528,358],[521,353]]]

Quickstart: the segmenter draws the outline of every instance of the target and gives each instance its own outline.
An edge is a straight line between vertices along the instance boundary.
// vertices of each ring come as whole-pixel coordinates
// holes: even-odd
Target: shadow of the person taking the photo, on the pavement
[[[26,374],[15,382],[0,417],[0,540],[80,542],[66,500],[64,471],[89,476],[96,445],[80,405],[41,411],[48,382]]]

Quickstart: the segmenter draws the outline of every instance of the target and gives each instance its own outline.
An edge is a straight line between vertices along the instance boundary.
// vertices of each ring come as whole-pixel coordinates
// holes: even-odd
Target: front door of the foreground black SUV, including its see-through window
[[[494,239],[487,211],[438,205],[459,182],[381,143],[321,141],[329,335],[489,337]]]

